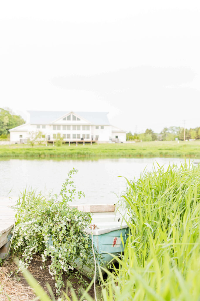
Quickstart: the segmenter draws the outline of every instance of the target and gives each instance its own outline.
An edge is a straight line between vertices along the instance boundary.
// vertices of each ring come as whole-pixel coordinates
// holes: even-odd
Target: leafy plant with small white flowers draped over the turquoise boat
[[[35,191],[23,194],[13,234],[11,250],[13,256],[20,259],[19,266],[28,267],[33,254],[39,252],[43,261],[40,268],[43,269],[47,256],[51,257],[52,263],[48,268],[55,279],[56,293],[64,286],[63,271],[72,278],[71,271],[77,267],[77,261],[79,271],[76,277],[83,286],[87,285],[82,277],[83,265],[91,270],[94,268],[91,240],[85,231],[91,224],[91,213],[68,205],[76,195],[79,198],[84,196],[81,191],[76,191],[74,182],[70,180],[77,172],[76,169],[68,172],[59,195],[45,197],[41,193],[36,195]]]

